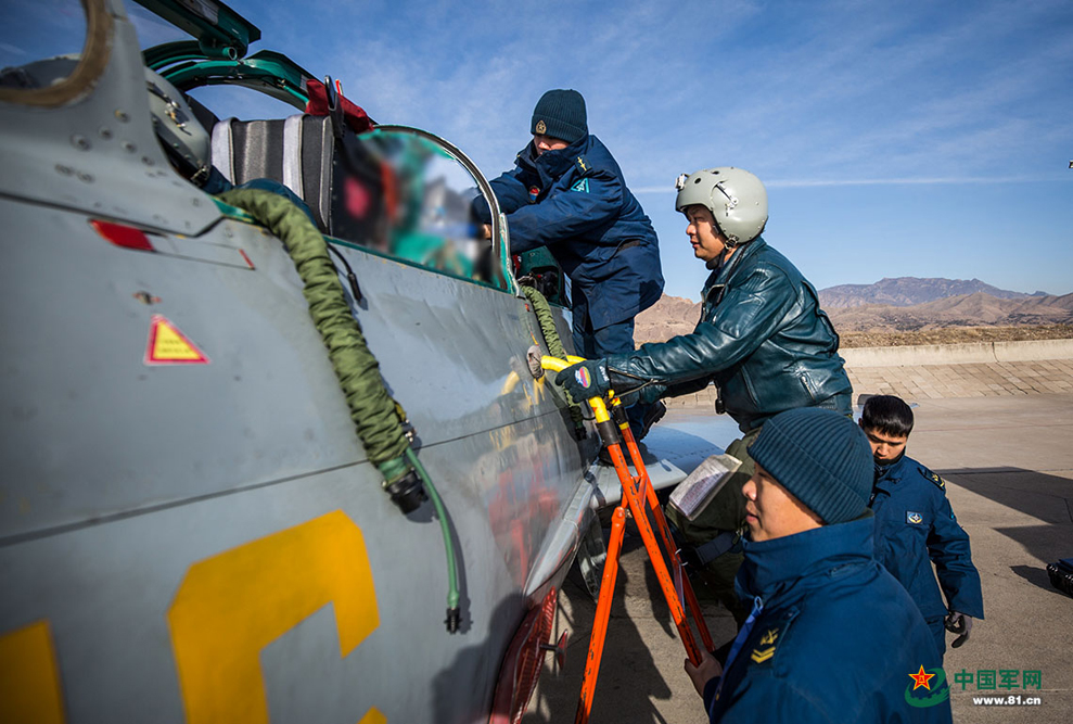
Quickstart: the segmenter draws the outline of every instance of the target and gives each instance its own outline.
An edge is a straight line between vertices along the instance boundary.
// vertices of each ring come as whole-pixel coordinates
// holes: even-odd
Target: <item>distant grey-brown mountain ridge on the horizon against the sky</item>
[[[820,305],[827,309],[859,307],[866,304],[885,304],[892,307],[909,307],[951,296],[976,293],[989,294],[1000,300],[1023,300],[1030,296],[1047,296],[1045,292],[1024,294],[998,289],[979,279],[921,279],[896,277],[880,279],[874,284],[839,284],[819,292]]]

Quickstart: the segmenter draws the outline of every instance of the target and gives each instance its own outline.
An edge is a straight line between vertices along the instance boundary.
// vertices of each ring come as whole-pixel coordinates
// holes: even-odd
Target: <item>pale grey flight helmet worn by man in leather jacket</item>
[[[733,166],[702,168],[678,177],[675,208],[700,205],[712,212],[715,224],[733,249],[752,241],[767,224],[767,191],[758,178]]]

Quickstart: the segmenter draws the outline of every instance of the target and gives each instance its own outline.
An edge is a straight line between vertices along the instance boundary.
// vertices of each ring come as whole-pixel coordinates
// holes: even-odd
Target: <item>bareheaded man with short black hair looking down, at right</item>
[[[912,410],[905,402],[893,395],[869,397],[860,428],[876,462],[868,504],[876,511],[876,558],[917,601],[942,657],[947,630],[960,634],[953,644],[958,647],[969,638],[972,620],[984,618],[969,534],[954,517],[943,479],[905,454],[912,432]]]

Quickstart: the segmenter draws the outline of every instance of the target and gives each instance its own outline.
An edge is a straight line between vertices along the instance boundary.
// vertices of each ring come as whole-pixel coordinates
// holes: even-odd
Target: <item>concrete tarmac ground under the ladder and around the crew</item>
[[[1073,395],[928,399],[915,415],[909,455],[947,481],[983,584],[986,618],[961,648],[947,648],[944,662],[954,721],[1073,721],[1073,598],[1053,588],[1046,571],[1047,563],[1073,557]],[[695,430],[705,417],[675,411],[661,424]],[[720,444],[733,434],[725,421],[717,419],[714,429]],[[640,537],[627,530],[633,534],[624,544],[589,721],[701,724],[707,716],[682,671],[685,650]],[[712,600],[703,608],[715,644],[732,638],[730,614]],[[566,663],[557,672],[547,657],[524,723],[574,721],[595,610],[575,567],[560,595],[554,634],[570,631]],[[981,671],[995,672],[994,689],[985,688],[986,673],[978,681]],[[1038,672],[1038,689],[1024,686],[1026,671]],[[980,697],[1021,703],[974,703]],[[1038,704],[1025,703],[1037,698]]]

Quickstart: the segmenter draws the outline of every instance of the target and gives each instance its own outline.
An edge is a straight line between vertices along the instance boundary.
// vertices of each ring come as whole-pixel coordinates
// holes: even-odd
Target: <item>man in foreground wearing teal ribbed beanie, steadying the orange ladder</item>
[[[782,412],[751,448],[738,574],[752,613],[726,666],[686,673],[712,722],[950,722],[920,611],[872,557],[872,461],[853,420]]]

